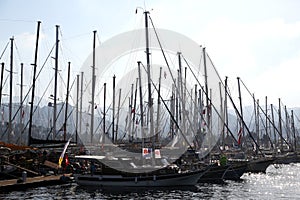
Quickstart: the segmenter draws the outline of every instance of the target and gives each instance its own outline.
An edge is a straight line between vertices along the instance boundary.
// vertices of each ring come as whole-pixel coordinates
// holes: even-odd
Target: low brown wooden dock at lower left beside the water
[[[65,175],[66,179],[62,179],[63,175],[50,175],[50,176],[36,176],[27,177],[26,181],[20,181],[21,179],[9,179],[0,181],[0,193],[6,193],[9,191],[25,190],[28,188],[60,185],[67,183],[70,180],[70,175]]]

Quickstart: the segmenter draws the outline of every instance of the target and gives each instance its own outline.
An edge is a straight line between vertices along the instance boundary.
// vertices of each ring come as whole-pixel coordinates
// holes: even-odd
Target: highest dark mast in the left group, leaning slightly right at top
[[[33,119],[33,103],[34,103],[34,92],[35,92],[35,76],[36,76],[36,67],[37,67],[37,53],[39,45],[39,35],[40,35],[40,25],[41,22],[38,21],[37,25],[37,35],[36,35],[36,44],[35,44],[35,54],[34,54],[34,64],[33,64],[33,81],[32,81],[32,94],[31,94],[31,105],[30,105],[30,114],[29,114],[29,129],[28,129],[28,145],[31,144],[31,128],[32,128],[32,119]]]

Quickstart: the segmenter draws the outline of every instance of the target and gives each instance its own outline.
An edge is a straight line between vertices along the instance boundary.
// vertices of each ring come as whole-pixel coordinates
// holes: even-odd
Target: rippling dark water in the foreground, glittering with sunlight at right
[[[99,190],[75,183],[0,194],[0,199],[300,199],[300,163],[271,165],[266,174],[195,187]]]

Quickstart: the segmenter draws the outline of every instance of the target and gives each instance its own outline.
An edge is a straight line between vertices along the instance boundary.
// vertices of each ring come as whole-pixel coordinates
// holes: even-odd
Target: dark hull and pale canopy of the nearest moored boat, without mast
[[[96,187],[170,187],[192,186],[209,170],[209,167],[197,170],[181,171],[171,164],[164,168],[145,172],[144,166],[132,165],[131,172],[113,169],[103,164],[104,156],[76,156],[78,159],[93,163],[90,171],[75,173],[78,185]],[[108,160],[106,160],[107,162]],[[114,166],[126,168],[124,160],[110,160]],[[112,164],[111,163],[111,164]],[[91,164],[92,166],[92,164]]]

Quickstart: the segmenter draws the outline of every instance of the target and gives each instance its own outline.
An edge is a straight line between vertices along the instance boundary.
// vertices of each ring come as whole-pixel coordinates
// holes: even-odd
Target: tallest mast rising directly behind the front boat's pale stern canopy
[[[94,104],[95,104],[95,50],[96,50],[96,34],[97,31],[93,31],[94,33],[94,40],[93,40],[93,66],[92,66],[92,113],[91,113],[91,143],[93,143],[93,136],[94,136]],[[105,112],[105,111],[104,111]]]

